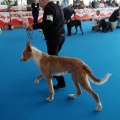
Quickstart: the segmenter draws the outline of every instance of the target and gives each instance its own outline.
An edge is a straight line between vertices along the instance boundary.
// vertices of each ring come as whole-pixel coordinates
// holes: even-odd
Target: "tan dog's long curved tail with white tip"
[[[87,66],[87,65],[83,65],[83,69],[86,71],[87,75],[89,76],[89,78],[91,78],[91,81],[94,82],[95,84],[104,84],[105,82],[107,82],[107,80],[109,79],[109,77],[111,76],[110,73],[106,74],[104,78],[102,79],[98,79],[96,78],[93,74],[92,74],[92,70]]]

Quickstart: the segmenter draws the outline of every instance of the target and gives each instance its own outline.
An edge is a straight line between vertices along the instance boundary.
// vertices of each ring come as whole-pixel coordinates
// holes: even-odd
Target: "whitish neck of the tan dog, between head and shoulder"
[[[35,47],[31,47],[31,48],[32,48],[32,58],[35,61],[35,63],[39,66],[40,59],[42,57],[42,52]]]

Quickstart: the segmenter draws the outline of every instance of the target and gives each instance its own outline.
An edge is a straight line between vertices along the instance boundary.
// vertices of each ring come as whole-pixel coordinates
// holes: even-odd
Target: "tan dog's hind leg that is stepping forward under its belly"
[[[77,96],[79,96],[82,93],[82,91],[80,89],[80,84],[79,84],[79,81],[77,80],[77,78],[74,75],[72,75],[72,79],[73,79],[73,82],[74,82],[75,87],[76,87],[76,93],[75,94],[69,94],[68,96],[70,98],[76,98]]]

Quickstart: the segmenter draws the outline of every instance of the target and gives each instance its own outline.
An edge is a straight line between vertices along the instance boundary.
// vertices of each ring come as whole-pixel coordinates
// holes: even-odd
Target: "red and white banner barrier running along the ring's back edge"
[[[78,20],[92,19],[97,10],[100,10],[100,16],[102,18],[108,18],[117,8],[99,8],[99,9],[76,9],[75,18]],[[12,25],[22,25],[22,18],[28,18],[29,23],[33,24],[32,12],[0,12],[0,26],[7,26],[10,24],[10,16]],[[39,12],[38,22],[42,21],[43,11]],[[74,15],[71,17],[74,20]]]

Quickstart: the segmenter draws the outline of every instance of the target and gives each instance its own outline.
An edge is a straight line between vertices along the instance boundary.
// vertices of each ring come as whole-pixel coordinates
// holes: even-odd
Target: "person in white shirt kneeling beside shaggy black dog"
[[[92,18],[92,30],[100,31],[100,29],[99,29],[99,21],[100,20],[101,20],[100,10],[97,10],[96,14]]]

